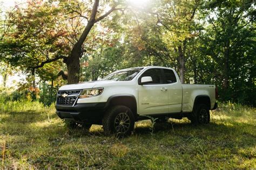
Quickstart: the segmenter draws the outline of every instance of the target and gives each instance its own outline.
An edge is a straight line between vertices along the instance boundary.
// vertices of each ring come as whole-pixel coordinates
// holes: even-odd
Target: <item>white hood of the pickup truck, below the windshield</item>
[[[78,90],[78,89],[91,89],[104,87],[107,84],[113,83],[113,80],[103,80],[103,81],[89,81],[89,82],[81,82],[77,84],[69,84],[66,86],[62,86],[59,90]]]

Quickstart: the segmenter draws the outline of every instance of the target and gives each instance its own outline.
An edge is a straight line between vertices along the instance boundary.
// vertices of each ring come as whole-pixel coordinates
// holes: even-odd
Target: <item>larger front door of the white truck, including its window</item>
[[[138,83],[142,77],[151,76],[153,82],[138,85],[139,91],[139,114],[159,114],[169,112],[168,84],[164,84],[164,77],[160,68],[151,68],[139,76]]]

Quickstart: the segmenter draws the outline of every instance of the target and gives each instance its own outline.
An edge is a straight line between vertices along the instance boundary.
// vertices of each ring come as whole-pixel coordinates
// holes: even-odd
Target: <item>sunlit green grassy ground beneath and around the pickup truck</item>
[[[54,107],[38,102],[0,103],[2,168],[256,168],[256,109],[221,105],[211,123],[169,119],[136,123],[131,137],[69,130]]]

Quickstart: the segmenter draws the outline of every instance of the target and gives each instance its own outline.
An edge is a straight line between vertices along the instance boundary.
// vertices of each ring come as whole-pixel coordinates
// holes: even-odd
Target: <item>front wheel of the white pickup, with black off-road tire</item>
[[[103,118],[103,129],[106,134],[130,135],[134,129],[134,116],[131,109],[124,105],[109,109]]]

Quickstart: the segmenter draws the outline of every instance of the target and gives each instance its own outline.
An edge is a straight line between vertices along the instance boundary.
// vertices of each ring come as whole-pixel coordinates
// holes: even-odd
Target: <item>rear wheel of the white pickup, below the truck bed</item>
[[[192,116],[188,117],[193,124],[208,124],[210,122],[210,111],[205,104],[199,104],[192,112]]]

